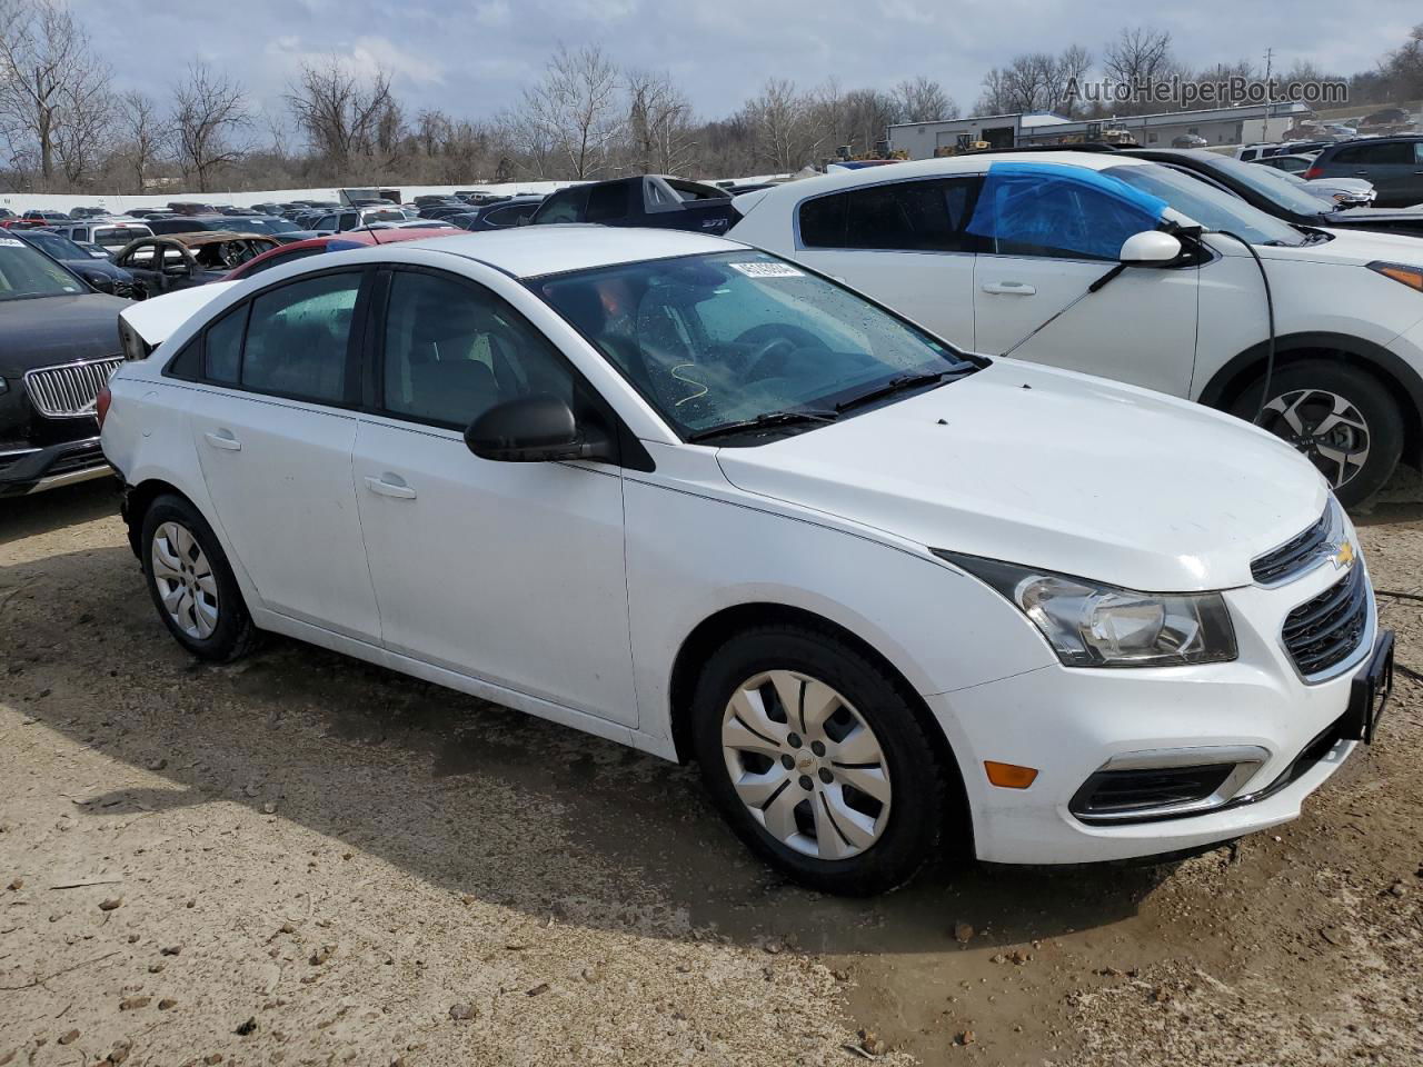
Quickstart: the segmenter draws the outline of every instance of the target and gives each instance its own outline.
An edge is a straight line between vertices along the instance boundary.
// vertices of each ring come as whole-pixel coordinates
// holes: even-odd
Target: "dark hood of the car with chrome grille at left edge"
[[[0,376],[117,356],[118,313],[129,304],[104,293],[0,302]]]

